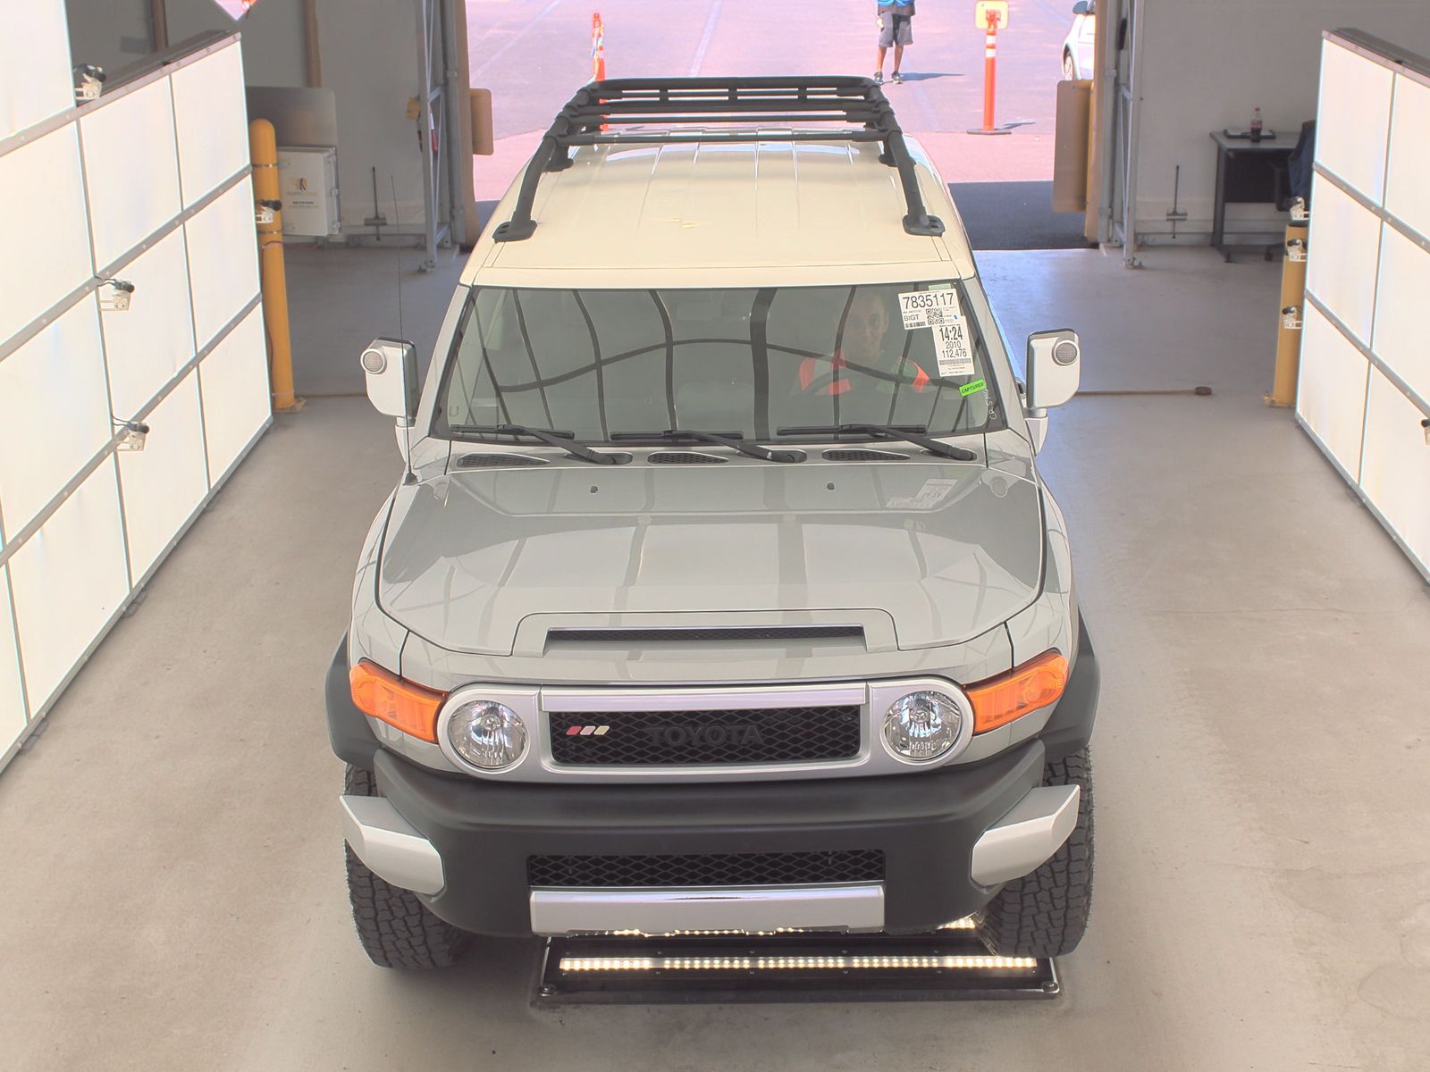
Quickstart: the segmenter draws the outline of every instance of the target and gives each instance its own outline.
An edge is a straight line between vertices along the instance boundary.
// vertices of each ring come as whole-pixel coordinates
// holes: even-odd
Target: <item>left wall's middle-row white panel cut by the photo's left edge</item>
[[[113,436],[94,296],[0,362],[0,506],[14,536]]]

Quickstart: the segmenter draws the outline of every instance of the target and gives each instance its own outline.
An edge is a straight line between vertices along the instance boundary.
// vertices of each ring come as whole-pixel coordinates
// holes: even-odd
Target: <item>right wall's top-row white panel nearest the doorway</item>
[[[1326,41],[1317,107],[1316,163],[1376,204],[1386,190],[1386,136],[1394,76],[1350,49]],[[1313,204],[1316,200],[1313,197]],[[1316,204],[1320,213],[1321,206]],[[1313,224],[1314,226],[1314,224]]]

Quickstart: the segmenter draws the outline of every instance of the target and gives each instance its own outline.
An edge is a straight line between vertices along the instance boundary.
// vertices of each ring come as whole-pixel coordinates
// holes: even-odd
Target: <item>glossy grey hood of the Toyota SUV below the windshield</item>
[[[533,615],[851,610],[887,613],[917,649],[1028,606],[1042,546],[1037,485],[978,463],[482,469],[399,489],[378,599],[483,655],[511,655]]]

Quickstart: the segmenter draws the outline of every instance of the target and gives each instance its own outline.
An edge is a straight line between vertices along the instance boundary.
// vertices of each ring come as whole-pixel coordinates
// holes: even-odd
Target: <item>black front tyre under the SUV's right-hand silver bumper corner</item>
[[[1062,956],[1077,949],[1093,903],[1093,758],[1083,749],[1042,769],[1044,785],[1083,790],[1077,826],[1031,875],[1014,879],[978,915],[978,936],[1001,956]]]

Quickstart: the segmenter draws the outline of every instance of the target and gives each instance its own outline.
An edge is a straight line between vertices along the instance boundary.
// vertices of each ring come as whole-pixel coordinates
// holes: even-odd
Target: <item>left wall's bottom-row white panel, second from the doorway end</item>
[[[119,455],[129,567],[139,582],[209,490],[199,416],[199,372],[154,406],[143,450]]]

